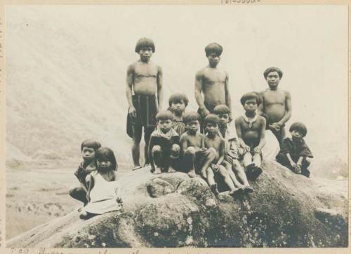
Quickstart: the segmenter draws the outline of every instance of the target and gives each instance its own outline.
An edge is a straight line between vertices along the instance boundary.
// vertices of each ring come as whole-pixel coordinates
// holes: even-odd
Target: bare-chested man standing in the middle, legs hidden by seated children
[[[228,74],[217,68],[223,48],[218,43],[211,43],[206,46],[205,52],[208,65],[197,71],[195,77],[195,99],[199,105],[198,112],[202,119],[209,113],[213,113],[213,108],[217,105],[225,104],[228,108],[232,108],[228,89]],[[232,120],[232,115],[230,115],[230,120]]]

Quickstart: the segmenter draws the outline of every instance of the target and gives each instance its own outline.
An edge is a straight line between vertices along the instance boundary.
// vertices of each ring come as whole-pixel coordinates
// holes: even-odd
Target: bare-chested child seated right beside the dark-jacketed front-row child
[[[197,112],[185,113],[183,120],[187,129],[180,136],[183,167],[190,177],[195,177],[195,172],[206,171],[216,157],[216,151],[205,148],[205,136],[198,132],[201,117]]]

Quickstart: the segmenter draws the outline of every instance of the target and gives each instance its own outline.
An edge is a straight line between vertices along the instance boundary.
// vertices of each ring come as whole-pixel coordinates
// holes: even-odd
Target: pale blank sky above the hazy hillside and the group
[[[234,117],[243,113],[241,95],[265,90],[263,71],[277,66],[284,73],[279,87],[292,97],[288,127],[304,122],[312,150],[337,144],[335,153],[347,155],[347,6],[7,6],[6,15],[50,24],[58,35],[73,31],[85,43],[83,53],[114,48],[115,66],[96,57],[96,74],[114,78],[124,108],[126,68],[138,59],[140,37],[155,43],[152,61],[163,69],[164,107],[172,92],[185,92],[188,108],[197,109],[194,75],[207,64],[208,43],[223,46],[218,67],[229,74]]]

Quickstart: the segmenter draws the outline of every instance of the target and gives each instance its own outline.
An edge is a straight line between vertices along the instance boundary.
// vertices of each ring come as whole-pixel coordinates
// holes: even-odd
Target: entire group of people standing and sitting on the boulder
[[[232,121],[228,74],[217,67],[223,52],[218,43],[206,46],[208,65],[196,73],[197,112],[185,112],[189,100],[180,93],[172,94],[167,110],[161,110],[162,69],[150,61],[155,52],[153,41],[140,38],[135,52],[140,59],[128,66],[126,78],[127,134],[133,139],[133,170],[141,168],[140,141],[144,132],[145,164],[151,165],[153,174],[183,171],[190,177],[201,176],[216,195],[216,179],[222,178],[230,195],[250,193],[253,188],[248,178],[255,180],[262,173],[265,132],[270,131],[280,146],[277,162],[296,174],[310,176],[307,168],[312,153],[303,140],[307,134],[305,125],[293,123],[289,129],[291,138],[286,137],[285,124],[291,118],[291,96],[278,89],[283,76],[280,69],[270,67],[265,70],[263,75],[269,89],[244,94],[240,102],[245,113]],[[100,148],[96,141],[85,141],[81,151],[84,162],[75,172],[81,188],[75,188],[69,194],[87,204],[81,211],[81,218],[86,218],[109,210],[108,200],[117,197],[111,190],[107,190],[109,199],[99,197],[102,195],[100,185],[114,181],[117,162],[112,150]],[[95,154],[95,159],[86,153]],[[104,207],[101,208],[101,202],[88,202],[89,196],[95,201],[103,199]],[[120,205],[121,199],[117,199]]]

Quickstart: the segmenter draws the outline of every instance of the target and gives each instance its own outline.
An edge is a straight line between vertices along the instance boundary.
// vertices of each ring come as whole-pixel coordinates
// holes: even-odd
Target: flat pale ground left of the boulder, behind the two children
[[[6,239],[79,208],[81,203],[68,195],[70,188],[79,186],[73,175],[79,161],[70,164],[55,168],[41,162],[6,169]],[[119,164],[119,173],[130,168]]]

